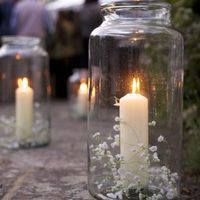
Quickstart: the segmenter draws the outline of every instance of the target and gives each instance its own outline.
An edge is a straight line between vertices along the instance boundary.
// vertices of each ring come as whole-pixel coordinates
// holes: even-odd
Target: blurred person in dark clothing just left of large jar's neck
[[[83,43],[82,67],[88,68],[88,43],[91,32],[102,23],[98,0],[85,0],[80,11],[81,37]]]

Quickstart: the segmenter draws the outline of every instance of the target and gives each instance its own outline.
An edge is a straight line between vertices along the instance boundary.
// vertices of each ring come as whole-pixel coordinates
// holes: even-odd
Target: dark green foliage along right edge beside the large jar
[[[184,164],[200,173],[200,1],[168,0],[173,25],[185,40]]]

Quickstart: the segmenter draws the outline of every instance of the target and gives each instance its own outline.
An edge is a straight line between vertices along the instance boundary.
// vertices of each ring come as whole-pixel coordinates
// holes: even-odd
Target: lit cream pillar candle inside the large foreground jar
[[[124,159],[121,167],[138,176],[145,187],[148,181],[148,161],[145,160],[148,152],[148,99],[138,94],[139,87],[139,79],[134,79],[133,93],[120,99],[120,151]]]

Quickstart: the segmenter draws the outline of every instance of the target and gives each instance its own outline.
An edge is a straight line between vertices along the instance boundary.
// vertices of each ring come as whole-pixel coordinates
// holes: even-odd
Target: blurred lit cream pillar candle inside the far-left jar
[[[33,89],[28,86],[28,79],[18,79],[16,89],[16,136],[19,142],[28,140],[32,135]]]

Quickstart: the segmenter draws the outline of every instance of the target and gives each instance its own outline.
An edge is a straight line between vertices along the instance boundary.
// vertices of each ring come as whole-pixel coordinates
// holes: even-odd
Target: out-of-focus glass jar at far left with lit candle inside
[[[3,37],[0,49],[0,146],[50,140],[48,54],[38,38]]]

